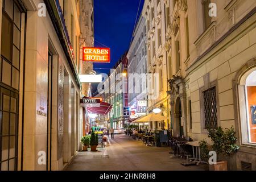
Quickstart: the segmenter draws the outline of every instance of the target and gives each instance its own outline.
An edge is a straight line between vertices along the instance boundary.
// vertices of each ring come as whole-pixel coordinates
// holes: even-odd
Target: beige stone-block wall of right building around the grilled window
[[[189,2],[189,1],[188,1]],[[217,6],[223,7],[228,1],[217,1]],[[188,7],[193,7],[192,2]],[[235,22],[237,23],[243,16],[246,15],[253,7],[256,6],[255,1],[238,1],[237,4],[237,16]],[[193,11],[189,10],[189,17],[193,19]],[[243,12],[243,13],[242,13]],[[228,24],[228,13],[219,11],[216,30],[216,40],[220,36],[224,35],[230,27],[226,27]],[[200,59],[195,65],[189,68],[188,80],[189,89],[187,90],[187,96],[191,97],[192,101],[192,131],[189,135],[196,140],[207,138],[207,134],[201,130],[203,125],[203,119],[201,113],[203,112],[203,106],[200,104],[201,92],[200,89],[205,85],[203,76],[209,73],[210,82],[217,81],[217,101],[219,104],[219,124],[224,129],[231,126],[236,127],[236,121],[234,118],[234,103],[233,103],[233,90],[232,80],[237,73],[237,70],[242,67],[247,61],[256,57],[256,28],[255,28],[256,15],[254,14],[250,19],[237,28],[232,34],[230,34],[225,40],[223,40],[217,47]],[[220,21],[220,22],[219,22]],[[191,41],[196,38],[196,28],[191,26],[190,28]],[[225,27],[225,28],[224,28]],[[196,48],[193,47],[191,60],[195,60],[197,55]],[[203,50],[204,48],[202,48]]]

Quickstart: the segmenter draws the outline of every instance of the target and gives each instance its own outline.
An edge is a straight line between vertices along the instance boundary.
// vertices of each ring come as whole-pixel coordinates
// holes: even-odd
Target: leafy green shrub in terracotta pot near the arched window
[[[240,148],[236,144],[237,137],[236,137],[236,132],[234,131],[234,128],[231,127],[230,129],[226,129],[225,131],[222,130],[222,127],[218,127],[217,129],[209,129],[208,137],[213,142],[211,150],[215,151],[217,154],[217,162],[216,164],[212,164],[212,165],[209,164],[209,170],[210,171],[227,171],[228,162],[223,159],[226,157],[232,156]],[[208,147],[206,146],[208,146],[206,141],[203,140],[200,142],[200,149],[203,149],[201,154],[203,156],[208,155],[207,152],[209,152],[209,150],[207,150]]]

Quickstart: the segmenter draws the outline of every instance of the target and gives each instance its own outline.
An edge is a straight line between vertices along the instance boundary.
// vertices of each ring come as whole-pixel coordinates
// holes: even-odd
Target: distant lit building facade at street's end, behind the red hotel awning
[[[98,86],[98,94],[95,97],[101,97],[104,102],[112,105],[112,109],[106,115],[97,117],[98,126],[124,127],[129,121],[129,107],[127,94],[127,52],[121,56],[119,61],[111,69],[104,82]]]

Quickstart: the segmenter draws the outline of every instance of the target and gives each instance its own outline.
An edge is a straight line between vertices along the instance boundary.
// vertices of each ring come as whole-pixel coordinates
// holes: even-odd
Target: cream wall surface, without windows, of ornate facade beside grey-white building
[[[149,7],[149,10],[147,9]],[[154,7],[154,19],[151,21],[151,7]],[[142,16],[147,20],[150,21],[150,29],[147,29],[147,37],[146,41],[147,44],[147,71],[152,73],[159,73],[160,70],[162,70],[162,87],[159,88],[159,90],[155,90],[154,93],[157,92],[158,97],[154,99],[148,100],[148,110],[154,109],[155,107],[159,107],[160,104],[164,104],[164,106],[167,109],[167,55],[165,50],[165,43],[166,43],[166,25],[165,25],[165,14],[164,14],[164,1],[160,1],[160,6],[157,5],[156,0],[152,0],[151,2],[145,1],[143,10],[142,10]],[[146,14],[147,12],[147,14]],[[160,13],[161,12],[161,13]],[[160,13],[160,14],[159,14]],[[152,30],[152,24],[155,26],[155,31]],[[161,44],[158,44],[158,31],[161,32]],[[153,41],[155,42],[155,55],[153,55]],[[161,58],[162,57],[162,58]],[[155,65],[155,67],[153,67]],[[159,83],[159,82],[158,82]],[[154,86],[155,87],[155,86]],[[164,116],[168,116],[168,111],[163,111]],[[167,129],[167,120],[164,121],[166,123],[166,129]],[[158,125],[159,126],[159,125]],[[153,122],[152,127],[153,129],[158,126],[155,126],[155,123]]]

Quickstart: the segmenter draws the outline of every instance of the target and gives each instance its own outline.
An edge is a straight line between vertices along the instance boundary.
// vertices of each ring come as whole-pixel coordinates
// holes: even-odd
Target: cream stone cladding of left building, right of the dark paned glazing
[[[34,1],[37,5],[42,1]],[[46,166],[38,164],[38,152],[46,151],[46,129],[47,117],[36,114],[36,110],[40,110],[43,106],[47,112],[47,82],[48,82],[48,40],[50,39],[53,47],[56,49],[60,64],[63,64],[69,75],[69,89],[71,82],[75,85],[75,91],[80,93],[79,87],[76,85],[75,78],[69,68],[67,59],[63,49],[59,43],[59,39],[52,26],[51,19],[48,14],[46,17],[40,18],[36,11],[28,11],[27,14],[27,46],[26,46],[26,77],[25,77],[25,103],[24,103],[24,170],[44,170]],[[55,65],[57,66],[57,65]],[[54,68],[58,74],[59,69]],[[63,169],[63,159],[57,159],[57,78],[53,77],[53,126],[52,126],[52,169]],[[54,89],[55,88],[55,89]],[[71,156],[71,96],[69,94],[68,111],[64,112],[68,118],[68,148],[64,148],[68,161]],[[77,106],[78,107],[78,106]],[[55,112],[54,112],[55,110]],[[76,118],[76,113],[74,118]],[[81,121],[80,121],[81,122]],[[80,125],[81,127],[81,125]],[[78,143],[78,142],[77,142]]]

